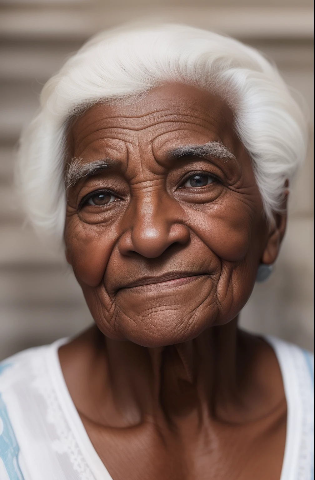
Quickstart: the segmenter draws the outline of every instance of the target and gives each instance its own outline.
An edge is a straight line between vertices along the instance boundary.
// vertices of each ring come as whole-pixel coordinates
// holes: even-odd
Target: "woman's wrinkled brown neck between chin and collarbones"
[[[100,423],[130,426],[149,417],[174,423],[187,415],[230,420],[243,403],[241,337],[237,317],[194,340],[160,348],[111,340],[93,327],[72,342],[80,352],[77,374],[72,360],[67,375],[75,358],[70,344],[60,349],[61,366],[78,410],[97,411],[94,421]]]

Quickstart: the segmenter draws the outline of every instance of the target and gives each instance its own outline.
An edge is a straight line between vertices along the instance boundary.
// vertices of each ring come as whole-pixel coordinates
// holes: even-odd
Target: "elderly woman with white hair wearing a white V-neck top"
[[[95,325],[2,363],[1,480],[313,478],[311,355],[237,326],[305,132],[257,51],[180,25],[102,33],[48,81],[20,191]]]

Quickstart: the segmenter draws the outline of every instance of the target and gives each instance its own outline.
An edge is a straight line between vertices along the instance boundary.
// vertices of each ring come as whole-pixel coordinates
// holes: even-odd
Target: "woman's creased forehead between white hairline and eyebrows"
[[[154,88],[129,105],[96,104],[70,130],[74,156],[104,149],[121,153],[139,144],[159,156],[179,144],[211,140],[233,148],[232,111],[219,96],[182,84]]]

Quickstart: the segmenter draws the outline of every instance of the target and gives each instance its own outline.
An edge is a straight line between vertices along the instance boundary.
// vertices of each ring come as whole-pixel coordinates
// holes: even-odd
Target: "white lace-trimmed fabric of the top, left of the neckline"
[[[17,474],[13,464],[0,466],[5,480],[111,478],[93,447],[96,459],[89,454],[91,442],[62,376],[58,360],[61,343],[26,350],[5,362],[10,366],[0,375],[0,394],[16,438],[12,448],[18,451],[20,466]],[[80,423],[84,432],[75,426]],[[0,457],[6,458],[2,451]]]

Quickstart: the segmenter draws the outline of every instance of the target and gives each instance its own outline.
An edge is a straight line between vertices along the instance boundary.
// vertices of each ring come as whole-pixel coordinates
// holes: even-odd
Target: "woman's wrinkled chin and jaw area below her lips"
[[[187,342],[221,323],[215,292],[212,281],[201,277],[180,286],[121,289],[110,302],[110,312],[105,307],[108,297],[100,295],[95,302],[94,296],[85,295],[85,300],[105,336],[154,348]]]

